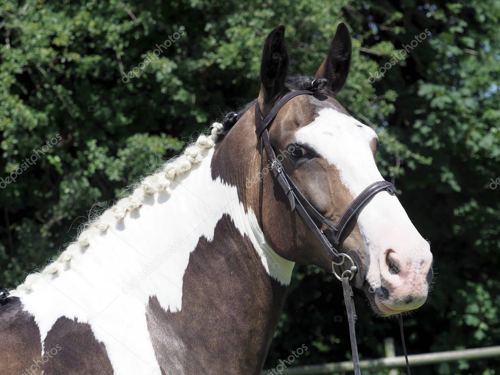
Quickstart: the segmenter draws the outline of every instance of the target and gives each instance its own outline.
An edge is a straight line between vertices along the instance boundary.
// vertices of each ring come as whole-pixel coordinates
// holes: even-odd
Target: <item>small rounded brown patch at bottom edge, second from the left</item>
[[[59,317],[45,338],[43,375],[111,375],[113,368],[104,344],[90,325]]]

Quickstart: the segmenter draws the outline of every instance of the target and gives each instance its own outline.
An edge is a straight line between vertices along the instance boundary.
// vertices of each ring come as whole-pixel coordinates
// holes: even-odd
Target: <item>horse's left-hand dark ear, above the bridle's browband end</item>
[[[273,29],[265,39],[260,63],[260,82],[263,102],[269,103],[286,89],[284,79],[288,71],[288,52],[284,45],[284,26]]]

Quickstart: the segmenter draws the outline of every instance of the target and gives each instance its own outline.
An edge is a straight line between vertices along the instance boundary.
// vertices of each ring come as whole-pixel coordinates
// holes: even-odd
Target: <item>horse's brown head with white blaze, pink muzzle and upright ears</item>
[[[269,172],[267,155],[261,168],[252,109],[258,105],[265,117],[286,93],[313,88],[314,82],[326,93],[291,98],[279,109],[268,134],[294,184],[318,212],[337,222],[366,186],[383,180],[375,163],[377,134],[334,98],[346,81],[350,57],[349,32],[340,24],[315,76],[288,77],[284,27],[272,30],[263,47],[258,98],[234,116],[237,122],[216,145],[214,157],[231,160],[213,173],[235,184],[240,199],[259,212],[259,225],[279,256],[329,271],[332,257],[290,211]],[[432,279],[432,255],[397,197],[386,191],[373,195],[347,226],[349,235],[340,245],[355,259],[354,284],[365,291],[375,313],[390,315],[421,306]]]

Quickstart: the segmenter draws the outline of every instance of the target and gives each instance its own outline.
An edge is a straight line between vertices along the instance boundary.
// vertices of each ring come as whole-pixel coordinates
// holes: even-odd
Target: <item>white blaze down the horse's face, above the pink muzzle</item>
[[[311,147],[335,165],[342,183],[353,197],[373,182],[383,180],[369,142],[375,132],[353,117],[333,108],[323,108],[307,126],[297,130],[297,142]],[[425,240],[409,220],[396,196],[380,192],[357,212],[357,223],[370,253],[367,279],[371,286],[380,285],[384,251],[394,248],[409,253]],[[426,242],[425,242],[426,243]],[[426,251],[429,252],[428,248]]]

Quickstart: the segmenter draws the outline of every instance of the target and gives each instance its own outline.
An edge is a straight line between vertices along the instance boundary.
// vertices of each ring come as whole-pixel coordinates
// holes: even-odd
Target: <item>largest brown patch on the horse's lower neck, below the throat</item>
[[[149,299],[147,326],[162,373],[259,374],[286,289],[223,215],[213,240],[201,237],[189,256],[182,309],[165,311]]]

